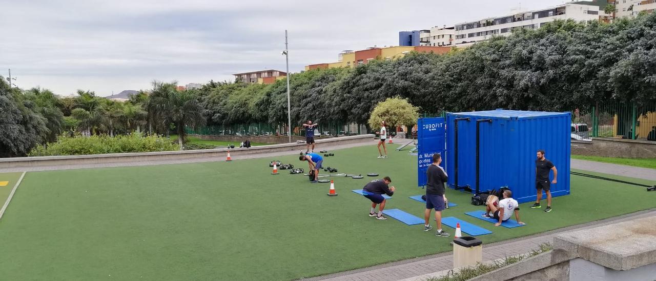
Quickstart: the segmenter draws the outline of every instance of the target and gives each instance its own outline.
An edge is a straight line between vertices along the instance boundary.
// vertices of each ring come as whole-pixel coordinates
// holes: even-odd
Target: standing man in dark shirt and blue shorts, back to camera
[[[448,237],[449,234],[442,230],[442,210],[445,208],[446,202],[444,183],[447,182],[447,173],[440,167],[442,157],[440,154],[433,154],[433,163],[428,166],[426,176],[428,181],[426,183],[426,211],[424,211],[424,231],[433,229],[430,227],[430,209],[435,209],[435,220],[437,223],[438,231],[435,236]]]

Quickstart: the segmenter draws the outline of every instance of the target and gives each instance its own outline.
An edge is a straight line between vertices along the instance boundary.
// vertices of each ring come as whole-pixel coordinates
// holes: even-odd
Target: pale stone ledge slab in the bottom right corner
[[[629,270],[656,263],[656,216],[568,232],[554,237],[563,249],[609,269]]]

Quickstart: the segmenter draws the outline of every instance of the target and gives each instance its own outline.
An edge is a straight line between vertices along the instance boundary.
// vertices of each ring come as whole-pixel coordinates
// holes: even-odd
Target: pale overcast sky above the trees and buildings
[[[542,9],[562,0],[523,1]],[[401,30],[428,29],[520,7],[518,1],[0,1],[0,75],[18,87],[100,96],[154,80],[205,83],[232,74],[291,72],[337,61],[342,50],[398,45]]]

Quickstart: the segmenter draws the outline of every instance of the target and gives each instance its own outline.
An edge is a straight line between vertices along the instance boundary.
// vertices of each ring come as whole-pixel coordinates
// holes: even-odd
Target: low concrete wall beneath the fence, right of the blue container
[[[612,138],[571,141],[571,154],[621,158],[656,158],[656,142]]]

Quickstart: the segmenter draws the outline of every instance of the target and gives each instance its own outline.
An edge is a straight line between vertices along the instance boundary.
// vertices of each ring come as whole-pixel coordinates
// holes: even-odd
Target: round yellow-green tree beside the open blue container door
[[[410,104],[404,98],[387,98],[373,109],[369,118],[369,127],[376,128],[381,121],[390,127],[412,126],[419,118],[419,108]]]

